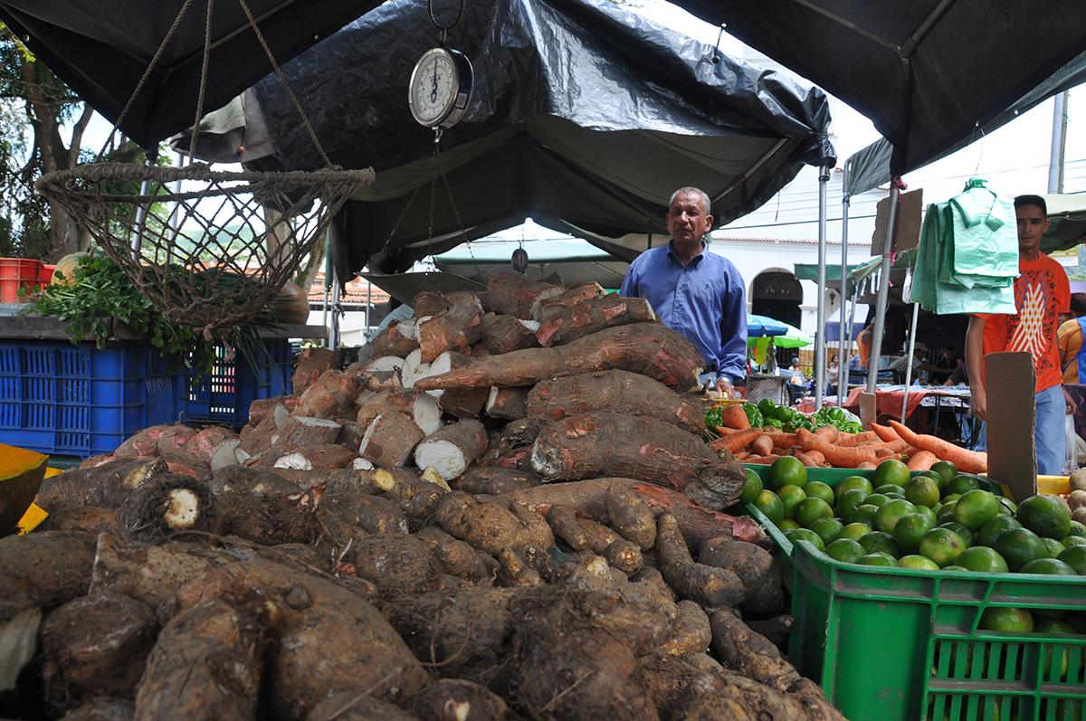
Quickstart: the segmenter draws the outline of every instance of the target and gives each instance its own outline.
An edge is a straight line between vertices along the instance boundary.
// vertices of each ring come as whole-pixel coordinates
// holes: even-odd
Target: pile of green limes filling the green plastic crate
[[[887,460],[835,486],[807,480],[785,456],[773,461],[766,488],[747,470],[742,501],[784,535],[809,541],[829,557],[864,566],[1056,575],[1086,574],[1086,527],[1058,497],[1037,495],[1015,507],[940,460],[910,473]]]

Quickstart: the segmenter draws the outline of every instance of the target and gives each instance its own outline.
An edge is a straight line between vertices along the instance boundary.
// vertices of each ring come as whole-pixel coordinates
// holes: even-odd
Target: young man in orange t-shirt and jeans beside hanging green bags
[[[1033,354],[1037,376],[1036,425],[1037,472],[1060,476],[1066,457],[1063,376],[1060,369],[1056,331],[1059,314],[1068,313],[1071,286],[1063,266],[1040,252],[1041,236],[1048,230],[1048,208],[1039,195],[1014,199],[1018,217],[1019,273],[1014,280],[1014,315],[971,315],[965,332],[965,363],[973,415],[987,417],[983,357],[1000,351]]]

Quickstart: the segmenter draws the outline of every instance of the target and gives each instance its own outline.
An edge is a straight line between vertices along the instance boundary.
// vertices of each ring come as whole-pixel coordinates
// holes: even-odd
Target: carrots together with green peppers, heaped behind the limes
[[[896,420],[889,426],[872,423],[864,431],[839,408],[806,416],[767,399],[757,406],[710,406],[705,418],[709,447],[745,464],[769,465],[792,456],[810,468],[871,469],[886,460],[906,461],[910,470],[924,470],[939,460],[971,473],[983,473],[988,467],[986,453],[915,433]]]

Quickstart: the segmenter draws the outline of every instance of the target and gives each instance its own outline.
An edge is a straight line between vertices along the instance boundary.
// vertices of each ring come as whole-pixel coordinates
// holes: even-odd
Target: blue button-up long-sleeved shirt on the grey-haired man
[[[735,382],[746,369],[746,287],[735,265],[702,246],[685,266],[671,242],[630,265],[622,295],[647,300],[668,328],[702,352],[707,366]]]

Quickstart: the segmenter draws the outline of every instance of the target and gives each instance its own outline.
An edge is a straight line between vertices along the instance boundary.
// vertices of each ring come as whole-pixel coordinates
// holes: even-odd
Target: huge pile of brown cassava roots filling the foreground
[[[503,275],[229,429],[147,429],[0,539],[0,717],[841,719],[640,299]],[[534,319],[534,321],[533,321]]]

